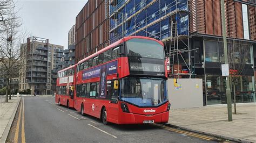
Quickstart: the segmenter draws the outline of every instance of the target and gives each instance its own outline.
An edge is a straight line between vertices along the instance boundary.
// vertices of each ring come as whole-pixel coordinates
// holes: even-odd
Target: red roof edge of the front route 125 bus
[[[93,54],[90,55],[90,56],[87,56],[87,57],[84,58],[83,60],[80,60],[77,64],[82,63],[82,62],[85,62],[86,60],[91,59],[91,58],[97,56],[99,53],[103,53],[103,52],[105,52],[105,51],[107,51],[107,50],[113,48],[114,46],[117,46],[117,45],[119,45],[119,44],[122,44],[122,42],[128,41],[128,40],[133,39],[133,38],[140,38],[140,39],[153,40],[153,41],[158,42],[160,45],[164,46],[163,42],[161,42],[161,41],[159,41],[159,40],[156,40],[156,39],[153,39],[153,38],[149,38],[149,37],[143,37],[143,36],[124,37],[123,39],[120,39],[120,40],[114,42],[113,44],[111,44],[111,45],[109,45],[109,46],[107,46],[107,47],[105,47],[105,48],[103,48],[103,49],[100,49],[100,51],[98,51],[98,52],[96,52],[96,53],[93,53]]]

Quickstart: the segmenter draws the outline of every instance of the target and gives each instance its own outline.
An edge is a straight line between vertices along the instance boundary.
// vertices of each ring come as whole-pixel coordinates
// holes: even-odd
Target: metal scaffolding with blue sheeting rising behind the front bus
[[[181,75],[189,77],[191,74],[188,64],[190,63],[189,34],[188,1],[110,2],[110,42],[117,41],[123,35],[141,35],[163,41],[166,58],[170,63],[168,69],[171,77],[181,77]]]

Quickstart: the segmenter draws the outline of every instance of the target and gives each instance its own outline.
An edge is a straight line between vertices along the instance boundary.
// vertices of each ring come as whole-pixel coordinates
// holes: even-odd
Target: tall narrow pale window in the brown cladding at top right
[[[249,35],[249,25],[248,25],[248,11],[247,11],[247,5],[242,4],[242,24],[244,25],[244,38],[250,39]]]

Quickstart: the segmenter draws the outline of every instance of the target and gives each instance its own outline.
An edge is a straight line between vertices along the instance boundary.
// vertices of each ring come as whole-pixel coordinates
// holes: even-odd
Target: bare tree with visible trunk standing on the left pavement
[[[4,30],[0,33],[0,62],[2,65],[0,76],[5,77],[7,81],[5,102],[8,102],[11,79],[19,76],[18,71],[25,63],[25,56],[22,55],[26,50],[22,46],[28,35],[20,30],[20,27],[21,22],[15,18],[5,24]],[[11,99],[11,95],[9,99]]]

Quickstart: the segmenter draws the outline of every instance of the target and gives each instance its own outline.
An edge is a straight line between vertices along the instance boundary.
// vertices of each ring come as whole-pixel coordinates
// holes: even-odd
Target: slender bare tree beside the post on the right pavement
[[[237,113],[236,105],[236,85],[240,84],[242,73],[245,70],[245,65],[249,63],[250,48],[246,46],[246,42],[237,40],[228,40],[228,65],[230,67],[230,80],[233,85],[233,96],[234,96],[234,113]]]

